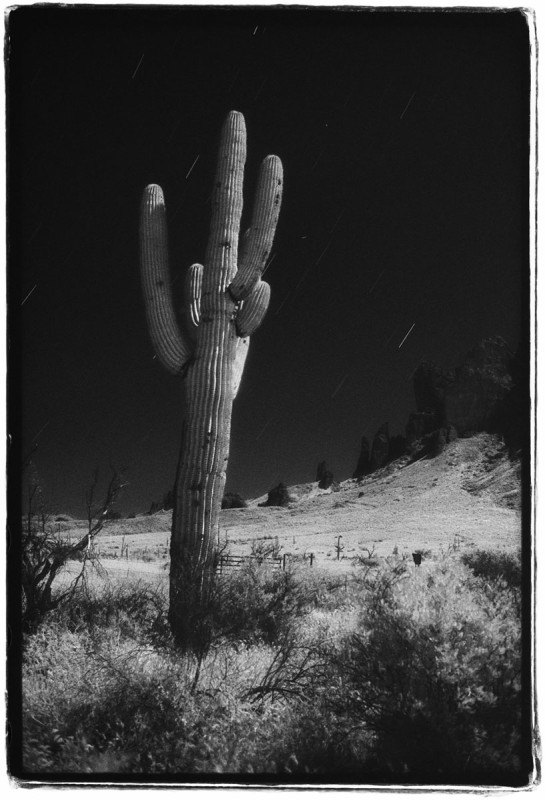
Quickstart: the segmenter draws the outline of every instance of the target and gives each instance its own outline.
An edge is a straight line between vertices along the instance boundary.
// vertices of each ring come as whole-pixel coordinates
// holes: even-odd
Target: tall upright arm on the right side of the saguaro
[[[280,214],[283,180],[282,162],[277,156],[267,156],[259,172],[252,224],[244,237],[239,270],[229,286],[235,300],[248,297],[265,269]]]

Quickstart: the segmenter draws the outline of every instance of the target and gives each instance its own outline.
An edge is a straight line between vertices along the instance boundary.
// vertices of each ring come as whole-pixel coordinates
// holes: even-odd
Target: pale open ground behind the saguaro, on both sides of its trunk
[[[290,487],[290,494],[288,508],[260,507],[264,496],[245,509],[222,511],[221,545],[232,554],[249,554],[253,541],[278,543],[288,558],[312,553],[315,565],[343,571],[354,556],[369,551],[380,559],[394,548],[399,554],[439,555],[449,548],[520,547],[518,465],[489,434],[459,439],[434,459],[400,459],[360,481],[325,491],[316,483],[301,484]],[[170,522],[171,512],[159,512],[109,523],[97,543],[106,575],[165,579]],[[70,565],[70,574],[77,568]]]

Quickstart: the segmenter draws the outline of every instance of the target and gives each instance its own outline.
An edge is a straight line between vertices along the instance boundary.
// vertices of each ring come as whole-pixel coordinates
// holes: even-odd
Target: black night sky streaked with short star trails
[[[10,432],[37,441],[55,510],[83,514],[110,461],[123,512],[172,485],[183,386],[146,330],[139,202],[162,185],[179,291],[230,109],[246,211],[268,153],[285,194],[227,488],[314,480],[323,459],[347,478],[362,435],[404,432],[423,358],[527,342],[521,13],[50,6],[9,25]]]

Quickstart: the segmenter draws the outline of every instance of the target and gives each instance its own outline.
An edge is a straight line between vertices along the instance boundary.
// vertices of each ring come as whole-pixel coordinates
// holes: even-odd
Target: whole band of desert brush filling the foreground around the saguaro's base
[[[520,560],[250,561],[168,624],[167,579],[88,581],[25,635],[26,774],[525,783]]]

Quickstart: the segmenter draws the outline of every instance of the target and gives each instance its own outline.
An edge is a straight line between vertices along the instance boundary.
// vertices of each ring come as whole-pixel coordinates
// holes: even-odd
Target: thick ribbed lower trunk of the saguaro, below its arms
[[[188,411],[170,540],[169,618],[179,642],[193,648],[202,636],[200,606],[215,569],[229,458],[236,334],[225,320],[210,323],[210,341],[196,353],[185,378]]]

